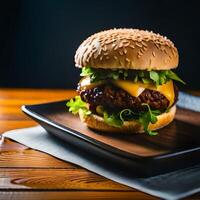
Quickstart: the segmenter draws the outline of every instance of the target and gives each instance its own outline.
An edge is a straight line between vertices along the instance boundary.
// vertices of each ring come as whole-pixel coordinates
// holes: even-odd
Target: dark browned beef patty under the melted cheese
[[[176,86],[174,90],[175,103],[178,95]],[[147,103],[153,110],[164,111],[170,103],[163,94],[155,90],[145,89],[138,97],[133,97],[123,89],[114,85],[100,85],[92,89],[79,91],[79,94],[81,99],[89,103],[92,108],[102,105],[109,110],[130,108],[138,112],[144,110],[142,103]]]

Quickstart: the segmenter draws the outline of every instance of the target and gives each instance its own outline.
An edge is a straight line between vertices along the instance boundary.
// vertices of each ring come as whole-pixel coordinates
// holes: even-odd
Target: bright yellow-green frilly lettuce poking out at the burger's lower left
[[[80,96],[75,96],[67,102],[67,107],[69,107],[69,112],[77,114],[79,110],[83,112],[84,115],[90,115],[91,111],[87,107],[87,103],[81,100]]]

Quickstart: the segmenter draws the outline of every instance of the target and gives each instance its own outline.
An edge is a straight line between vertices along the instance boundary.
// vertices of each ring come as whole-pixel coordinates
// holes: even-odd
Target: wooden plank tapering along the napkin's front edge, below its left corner
[[[35,151],[24,145],[4,139],[0,145],[0,168],[80,168]],[[3,169],[0,169],[3,170]]]

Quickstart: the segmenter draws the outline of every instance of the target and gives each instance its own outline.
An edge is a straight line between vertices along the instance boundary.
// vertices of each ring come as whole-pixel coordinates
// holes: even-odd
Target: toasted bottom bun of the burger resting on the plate
[[[174,105],[169,112],[163,113],[157,116],[157,122],[155,124],[149,124],[150,130],[157,130],[173,121],[176,113],[176,106]],[[79,112],[80,119],[85,123],[89,128],[112,133],[143,133],[143,126],[136,120],[125,121],[122,127],[116,128],[110,126],[104,122],[104,119],[101,116],[92,114],[89,116],[84,116],[82,112]]]

